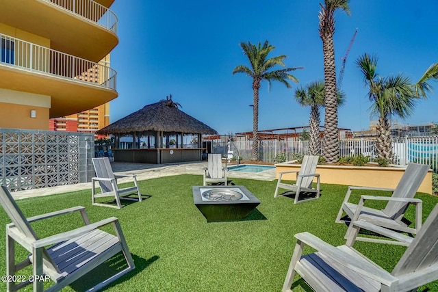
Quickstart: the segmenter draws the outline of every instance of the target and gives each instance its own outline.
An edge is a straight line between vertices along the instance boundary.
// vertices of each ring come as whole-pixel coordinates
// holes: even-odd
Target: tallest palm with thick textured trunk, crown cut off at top
[[[337,136],[337,89],[335,68],[335,11],[343,10],[350,15],[349,0],[324,0],[320,3],[320,37],[324,54],[324,83],[326,84],[326,111],[324,118],[324,146],[322,156],[326,162],[333,163],[339,158],[339,142]]]

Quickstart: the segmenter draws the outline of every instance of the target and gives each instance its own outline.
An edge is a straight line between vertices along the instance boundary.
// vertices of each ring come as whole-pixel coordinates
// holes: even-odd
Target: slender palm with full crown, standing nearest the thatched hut
[[[288,80],[298,82],[298,79],[294,77],[294,75],[289,74],[290,71],[301,69],[302,67],[295,68],[284,68],[280,70],[271,70],[272,67],[279,65],[285,66],[283,63],[283,59],[285,59],[286,55],[279,55],[277,57],[272,57],[267,59],[270,51],[275,49],[271,44],[268,43],[268,40],[264,42],[263,45],[259,42],[256,46],[255,44],[251,44],[250,42],[240,43],[240,47],[244,51],[246,57],[250,62],[250,68],[244,65],[239,65],[233,70],[233,75],[235,73],[245,73],[249,77],[253,78],[253,160],[259,159],[259,140],[257,137],[257,132],[259,131],[259,88],[261,81],[267,80],[269,83],[269,87],[271,86],[271,81],[279,81],[286,85],[287,88],[292,88],[292,85],[288,82]]]

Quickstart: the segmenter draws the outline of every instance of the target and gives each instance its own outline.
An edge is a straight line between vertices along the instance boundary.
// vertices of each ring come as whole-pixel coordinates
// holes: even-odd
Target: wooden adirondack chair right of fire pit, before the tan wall
[[[302,191],[316,193],[316,195],[315,198],[301,200],[300,202],[320,198],[320,174],[315,174],[316,165],[318,165],[318,159],[320,159],[320,157],[317,155],[305,155],[305,157],[302,159],[300,171],[280,172],[279,181],[276,184],[275,188],[274,198],[279,196],[279,188],[295,191],[294,204],[298,202],[298,197],[300,195],[300,192]],[[283,174],[289,173],[296,173],[296,183],[294,185],[281,182]],[[312,182],[314,177],[317,178],[316,189],[312,188]]]

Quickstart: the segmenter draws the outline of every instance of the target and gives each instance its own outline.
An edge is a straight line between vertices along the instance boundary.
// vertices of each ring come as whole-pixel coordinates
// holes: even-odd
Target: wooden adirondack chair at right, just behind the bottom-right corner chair
[[[416,234],[422,226],[422,200],[413,198],[417,193],[417,189],[420,187],[424,177],[426,176],[430,166],[418,163],[409,163],[404,171],[400,182],[396,189],[384,189],[377,187],[348,187],[347,194],[342,202],[341,209],[337,214],[335,222],[349,222],[364,220],[377,226],[383,226],[385,228],[391,228],[400,232]],[[353,204],[348,202],[353,189],[365,189],[365,190],[383,190],[393,191],[391,197],[384,196],[361,196],[359,204]],[[385,209],[377,210],[369,207],[364,207],[365,200],[385,200],[388,201]],[[407,210],[409,204],[415,205],[415,226],[413,228],[402,221],[404,212]],[[342,215],[346,213],[350,220],[342,220]],[[349,226],[346,233],[351,232]],[[374,241],[381,243],[394,243],[394,241],[386,241],[385,239],[372,239],[368,237],[358,237],[360,241]]]

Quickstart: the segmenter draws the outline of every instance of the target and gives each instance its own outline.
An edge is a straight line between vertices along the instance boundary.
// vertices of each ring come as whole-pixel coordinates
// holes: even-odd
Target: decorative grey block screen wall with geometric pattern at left
[[[0,185],[10,191],[90,181],[92,134],[0,129]]]

